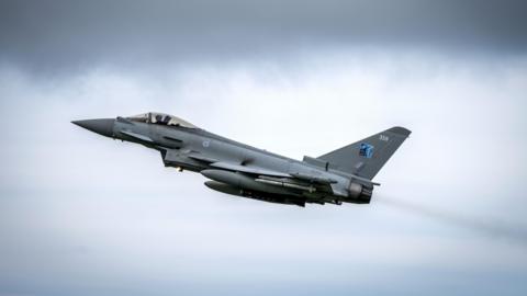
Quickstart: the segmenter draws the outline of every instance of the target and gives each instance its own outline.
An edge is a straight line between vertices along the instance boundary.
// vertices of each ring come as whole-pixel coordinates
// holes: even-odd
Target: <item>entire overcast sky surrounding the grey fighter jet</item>
[[[524,1],[0,1],[0,295],[525,295]],[[413,132],[370,205],[232,197],[72,119],[301,159]]]

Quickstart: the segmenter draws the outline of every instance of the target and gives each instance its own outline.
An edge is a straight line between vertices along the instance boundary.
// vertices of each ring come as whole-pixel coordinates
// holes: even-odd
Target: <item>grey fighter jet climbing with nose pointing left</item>
[[[373,177],[411,134],[395,126],[300,161],[224,138],[164,113],[72,123],[105,137],[156,149],[166,167],[199,172],[211,180],[204,184],[212,190],[302,207],[306,203],[369,204],[373,186],[380,185]]]

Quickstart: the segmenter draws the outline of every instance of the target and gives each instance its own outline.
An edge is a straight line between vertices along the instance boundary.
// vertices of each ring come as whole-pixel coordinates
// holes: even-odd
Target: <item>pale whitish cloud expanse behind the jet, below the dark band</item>
[[[0,294],[525,295],[524,246],[459,218],[526,221],[525,60],[396,57],[321,52],[161,78],[0,68]],[[296,208],[209,191],[69,123],[144,110],[295,158],[386,126],[414,133],[371,205]]]

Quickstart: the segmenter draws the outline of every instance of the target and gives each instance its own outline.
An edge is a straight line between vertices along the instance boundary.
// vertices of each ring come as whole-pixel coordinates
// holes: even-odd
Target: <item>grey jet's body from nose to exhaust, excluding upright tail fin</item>
[[[237,143],[198,127],[135,122],[130,118],[74,122],[103,136],[160,151],[166,167],[200,172],[212,190],[260,201],[367,204],[373,185],[330,163],[303,161]],[[374,183],[373,183],[374,184]]]

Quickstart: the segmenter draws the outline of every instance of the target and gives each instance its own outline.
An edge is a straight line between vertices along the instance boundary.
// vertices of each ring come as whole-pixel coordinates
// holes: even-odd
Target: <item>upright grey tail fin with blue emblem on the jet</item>
[[[318,157],[335,169],[372,180],[412,132],[400,126]]]

